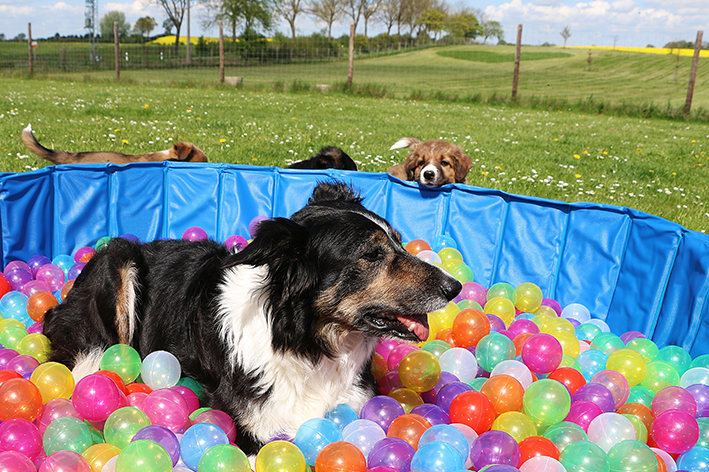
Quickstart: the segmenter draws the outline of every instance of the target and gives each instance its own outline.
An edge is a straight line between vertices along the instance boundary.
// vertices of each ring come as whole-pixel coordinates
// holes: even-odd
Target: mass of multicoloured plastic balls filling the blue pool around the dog
[[[418,249],[432,251],[435,245],[424,242]],[[450,242],[441,244],[434,253],[444,267],[473,272],[462,270],[462,254]],[[61,277],[45,266],[68,267],[65,274],[73,267],[67,258],[40,262],[7,270],[9,288],[12,281],[16,288],[31,284],[33,271],[51,287]],[[19,350],[32,336],[27,317],[41,322],[44,306],[57,301],[38,294],[48,292],[4,293],[0,341]],[[42,303],[35,301],[41,297]],[[649,471],[674,458],[678,467],[703,470],[709,457],[706,359],[693,360],[678,346],[658,348],[639,333],[604,331],[586,307],[557,306],[533,283],[486,290],[465,280],[466,300],[484,308],[451,304],[431,314],[437,329],[426,343],[383,340],[377,346],[373,373],[388,380],[380,385],[392,387],[389,395],[360,412],[340,405],[326,418],[309,420],[294,443],[268,443],[255,459],[256,472],[283,464],[318,472]],[[231,418],[200,408],[197,387],[179,385],[179,362],[170,353],[141,360],[129,346],[112,346],[101,360],[105,372],[74,384],[64,366],[44,362],[44,351],[0,350],[0,464],[21,456],[30,471],[55,464],[92,472],[111,465],[138,472],[210,472],[223,464],[250,470],[230,445],[238,436]],[[142,468],[146,462],[150,469]],[[627,463],[640,465],[628,469]]]

